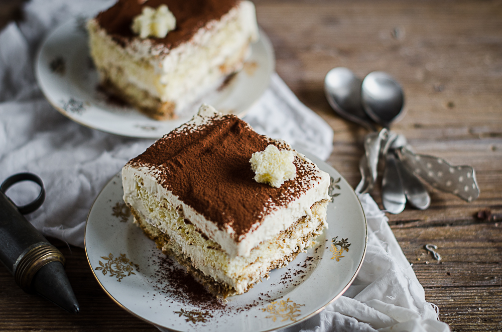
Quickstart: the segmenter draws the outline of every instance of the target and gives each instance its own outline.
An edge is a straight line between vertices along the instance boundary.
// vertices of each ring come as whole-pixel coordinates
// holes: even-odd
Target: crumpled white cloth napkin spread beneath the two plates
[[[34,55],[44,36],[71,17],[96,12],[113,1],[33,0],[25,22],[0,33],[0,182],[19,172],[44,181],[44,205],[27,219],[43,234],[83,246],[85,219],[106,182],[153,140],[118,137],[67,119],[43,98],[34,76]],[[274,74],[269,89],[245,120],[258,132],[282,138],[326,159],[333,131]],[[8,191],[18,204],[38,194],[20,184]],[[369,195],[360,197],[368,219],[366,259],[345,296],[288,331],[448,331]],[[371,327],[372,326],[372,327]],[[386,329],[388,328],[388,329]]]

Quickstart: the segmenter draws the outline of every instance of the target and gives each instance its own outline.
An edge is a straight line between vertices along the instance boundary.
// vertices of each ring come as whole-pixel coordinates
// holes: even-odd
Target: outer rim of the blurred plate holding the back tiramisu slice
[[[90,14],[87,13],[87,15],[90,15]],[[52,98],[50,98],[50,96],[48,95],[47,90],[43,88],[43,84],[42,84],[43,78],[41,77],[41,74],[40,74],[40,66],[39,66],[40,60],[39,59],[40,59],[40,57],[42,55],[42,52],[45,49],[46,43],[53,36],[54,33],[56,33],[57,31],[60,30],[61,27],[65,26],[65,25],[69,25],[71,23],[74,23],[79,18],[88,18],[88,16],[86,16],[85,14],[81,14],[81,15],[77,15],[75,17],[72,17],[72,18],[64,21],[60,25],[58,25],[55,28],[53,28],[52,30],[50,30],[47,33],[47,35],[44,37],[42,43],[40,43],[40,45],[38,46],[38,49],[37,49],[37,52],[36,52],[36,56],[34,58],[33,71],[34,71],[35,80],[37,82],[37,86],[39,87],[40,91],[42,92],[44,98],[60,114],[62,114],[66,118],[68,118],[68,119],[72,120],[73,122],[78,123],[79,125],[82,125],[82,126],[84,126],[86,128],[98,130],[98,131],[101,131],[101,132],[105,132],[105,133],[116,135],[116,136],[120,136],[120,137],[143,138],[143,139],[159,139],[159,138],[161,138],[163,134],[160,135],[160,136],[154,136],[154,135],[137,135],[137,134],[126,135],[126,134],[114,132],[114,131],[109,130],[109,129],[107,130],[105,128],[97,128],[97,127],[95,127],[95,126],[93,126],[93,125],[91,125],[89,123],[85,123],[84,121],[82,121],[78,117],[75,117],[70,112],[65,111],[61,106],[57,105],[56,102],[54,100],[52,100]],[[258,102],[258,100],[263,96],[263,94],[265,93],[265,91],[267,91],[267,89],[270,86],[271,80],[272,80],[272,75],[275,73],[275,70],[276,70],[276,55],[275,55],[274,46],[272,45],[272,42],[270,41],[270,38],[267,36],[267,34],[265,33],[265,31],[261,27],[259,27],[258,30],[259,30],[259,36],[260,36],[260,38],[259,38],[259,40],[257,42],[252,43],[252,45],[253,44],[259,44],[259,43],[261,43],[263,45],[263,47],[265,48],[266,54],[267,54],[267,58],[268,58],[268,62],[269,62],[268,65],[270,66],[270,73],[269,73],[269,75],[267,77],[266,82],[264,82],[264,84],[262,85],[262,88],[260,90],[259,96],[252,103],[250,103],[245,109],[243,109],[239,113],[235,114],[239,118],[244,117],[247,114],[247,112],[249,111],[249,109],[251,109]],[[204,96],[202,96],[201,98],[203,98],[203,97]],[[94,106],[96,108],[98,108],[98,109],[101,109],[101,108],[99,108],[96,105],[94,105]],[[137,112],[139,112],[134,106],[130,106],[130,107],[134,108]],[[148,119],[148,120],[150,120],[150,119]],[[151,120],[153,120],[153,119],[151,119]],[[160,123],[163,123],[163,122],[170,121],[170,120],[165,120],[165,121],[156,120],[156,121],[158,121]]]

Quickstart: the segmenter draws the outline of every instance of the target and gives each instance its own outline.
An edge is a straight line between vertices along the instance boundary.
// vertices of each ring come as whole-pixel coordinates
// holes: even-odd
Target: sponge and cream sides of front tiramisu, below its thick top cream
[[[266,277],[272,268],[282,267],[294,259],[299,252],[314,244],[326,224],[327,201],[312,207],[311,216],[295,221],[293,227],[269,241],[255,247],[249,256],[230,258],[221,247],[205,237],[184,215],[184,211],[167,200],[147,191],[143,179],[134,178],[134,195],[124,195],[132,206],[138,223],[148,223],[166,234],[169,242],[162,243],[163,251],[174,251],[178,256],[188,256],[193,267],[233,288],[235,294],[242,294],[250,285]],[[159,243],[159,242],[158,242]]]

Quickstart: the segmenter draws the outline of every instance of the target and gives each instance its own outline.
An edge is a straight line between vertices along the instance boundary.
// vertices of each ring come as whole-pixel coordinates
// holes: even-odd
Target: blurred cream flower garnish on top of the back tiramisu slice
[[[146,6],[141,15],[133,19],[131,29],[140,38],[164,38],[168,32],[176,29],[176,18],[166,5],[159,6],[157,10]]]

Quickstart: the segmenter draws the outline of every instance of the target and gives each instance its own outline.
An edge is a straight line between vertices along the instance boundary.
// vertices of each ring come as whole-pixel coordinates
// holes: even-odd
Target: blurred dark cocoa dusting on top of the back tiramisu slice
[[[111,8],[99,13],[98,24],[122,46],[137,38],[131,30],[133,18],[140,15],[143,7],[157,9],[167,5],[176,18],[176,29],[165,38],[149,39],[154,44],[161,44],[168,49],[189,41],[193,35],[212,20],[219,20],[238,0],[119,0]]]

